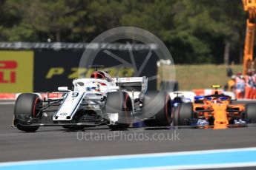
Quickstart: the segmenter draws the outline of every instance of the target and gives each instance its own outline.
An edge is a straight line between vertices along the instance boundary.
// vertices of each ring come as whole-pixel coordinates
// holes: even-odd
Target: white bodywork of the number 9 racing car
[[[53,120],[72,120],[76,112],[82,108],[82,102],[84,101],[91,105],[87,105],[89,109],[100,111],[100,106],[104,104],[103,99],[108,95],[108,92],[119,90],[128,92],[134,108],[134,99],[142,98],[142,94],[145,93],[148,87],[148,79],[145,77],[133,77],[112,78],[111,81],[106,81],[98,78],[77,78],[73,80],[73,86],[73,91],[65,90],[64,87],[59,88],[66,91],[67,94],[53,116]],[[133,86],[140,88],[140,90]]]

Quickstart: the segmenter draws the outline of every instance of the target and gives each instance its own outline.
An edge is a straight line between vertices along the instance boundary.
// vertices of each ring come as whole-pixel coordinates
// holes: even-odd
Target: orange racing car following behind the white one
[[[246,125],[255,123],[256,103],[233,104],[229,95],[219,94],[217,88],[214,95],[196,96],[194,103],[180,103],[174,109],[174,126],[214,126],[216,129],[226,128],[230,124]]]

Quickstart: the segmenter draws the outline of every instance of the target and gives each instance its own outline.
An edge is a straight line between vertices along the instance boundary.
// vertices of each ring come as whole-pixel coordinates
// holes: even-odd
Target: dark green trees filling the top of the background
[[[113,27],[157,35],[176,63],[239,61],[246,19],[240,0],[1,0],[0,41],[91,41]]]

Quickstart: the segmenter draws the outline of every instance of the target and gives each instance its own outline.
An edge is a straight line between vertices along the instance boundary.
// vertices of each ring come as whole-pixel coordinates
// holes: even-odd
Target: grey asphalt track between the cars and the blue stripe
[[[256,146],[255,125],[217,130],[130,128],[115,132],[107,126],[83,132],[40,127],[37,132],[26,133],[10,127],[14,104],[4,102],[0,102],[0,162]]]

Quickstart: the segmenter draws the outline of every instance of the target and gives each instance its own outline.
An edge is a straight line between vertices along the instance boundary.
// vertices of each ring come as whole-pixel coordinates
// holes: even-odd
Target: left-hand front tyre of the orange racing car
[[[174,109],[174,126],[188,125],[186,120],[193,118],[193,104],[180,103],[180,106]]]

